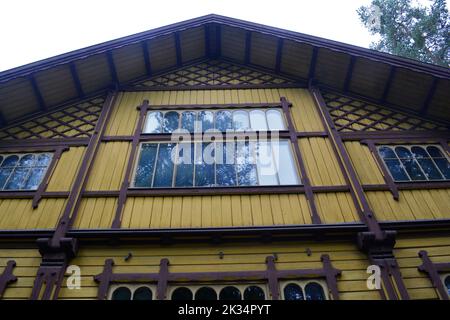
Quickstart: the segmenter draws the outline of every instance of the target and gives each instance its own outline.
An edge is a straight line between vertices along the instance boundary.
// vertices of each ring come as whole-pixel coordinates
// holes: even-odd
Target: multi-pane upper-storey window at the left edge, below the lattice
[[[52,156],[51,153],[0,154],[0,190],[36,190]]]

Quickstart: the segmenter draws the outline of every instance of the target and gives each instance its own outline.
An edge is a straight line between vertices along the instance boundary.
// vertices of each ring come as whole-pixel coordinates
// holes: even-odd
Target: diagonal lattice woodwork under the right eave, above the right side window
[[[347,96],[324,92],[323,98],[339,131],[448,130],[445,125]]]

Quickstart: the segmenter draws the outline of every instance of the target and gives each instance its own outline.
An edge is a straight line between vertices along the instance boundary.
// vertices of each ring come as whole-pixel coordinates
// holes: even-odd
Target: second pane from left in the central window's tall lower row
[[[171,187],[173,178],[172,150],[174,143],[161,143],[159,145],[158,160],[156,161],[153,187]]]

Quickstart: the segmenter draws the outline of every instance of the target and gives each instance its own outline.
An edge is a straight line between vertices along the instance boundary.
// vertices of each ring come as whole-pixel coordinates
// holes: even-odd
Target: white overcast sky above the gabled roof
[[[356,9],[370,0],[2,0],[0,71],[216,13],[361,47]]]

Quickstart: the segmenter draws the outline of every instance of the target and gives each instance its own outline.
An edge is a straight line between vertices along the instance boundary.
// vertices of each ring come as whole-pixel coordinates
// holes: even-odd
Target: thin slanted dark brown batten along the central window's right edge
[[[306,165],[303,160],[302,153],[300,152],[300,147],[298,145],[298,138],[295,133],[296,131],[295,131],[294,122],[292,120],[291,112],[289,110],[290,103],[286,100],[285,97],[281,97],[280,101],[281,101],[281,106],[283,108],[284,116],[285,116],[287,124],[288,124],[291,144],[292,144],[292,147],[294,148],[295,156],[297,158],[297,165],[300,170],[300,175],[301,175],[301,180],[302,180],[301,182],[304,186],[306,199],[308,200],[309,208],[311,210],[311,220],[312,220],[312,223],[314,223],[314,224],[320,224],[320,223],[322,223],[322,221],[321,221],[319,213],[317,211],[316,203],[314,200],[314,193],[312,192],[311,183],[309,181],[308,173],[306,171]]]

